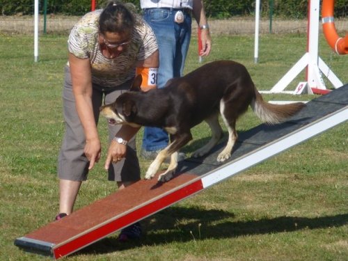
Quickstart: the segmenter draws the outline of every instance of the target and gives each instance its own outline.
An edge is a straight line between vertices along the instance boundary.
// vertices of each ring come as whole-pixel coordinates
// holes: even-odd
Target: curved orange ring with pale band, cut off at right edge
[[[335,0],[323,0],[322,24],[326,41],[337,54],[348,54],[348,33],[344,38],[338,36],[333,22],[333,6]]]

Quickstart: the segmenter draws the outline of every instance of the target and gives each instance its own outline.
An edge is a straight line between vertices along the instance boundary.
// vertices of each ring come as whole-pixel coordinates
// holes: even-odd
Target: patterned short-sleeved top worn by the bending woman
[[[106,58],[100,51],[99,17],[102,10],[87,13],[74,25],[68,49],[78,58],[89,58],[92,81],[103,87],[116,87],[134,78],[137,61],[143,61],[157,49],[155,33],[141,17],[137,17],[131,42],[116,58]]]

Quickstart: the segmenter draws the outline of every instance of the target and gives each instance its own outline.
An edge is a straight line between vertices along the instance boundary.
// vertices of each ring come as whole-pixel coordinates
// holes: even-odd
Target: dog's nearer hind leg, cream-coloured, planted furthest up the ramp
[[[235,142],[237,141],[237,132],[236,132],[236,118],[232,117],[231,115],[229,116],[229,119],[226,118],[224,114],[225,110],[225,104],[221,100],[220,103],[220,111],[221,111],[221,118],[223,118],[223,122],[225,122],[225,125],[228,129],[228,142],[226,144],[226,147],[223,149],[222,152],[217,157],[217,161],[223,162],[226,161],[226,159],[230,159],[231,153],[232,153],[232,148],[235,145]]]

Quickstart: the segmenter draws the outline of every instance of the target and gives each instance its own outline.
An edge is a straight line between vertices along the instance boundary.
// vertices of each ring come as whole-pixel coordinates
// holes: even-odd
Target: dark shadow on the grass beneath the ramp
[[[339,227],[348,224],[348,214],[315,218],[279,216],[273,219],[254,221],[229,221],[234,217],[235,214],[223,210],[170,207],[141,221],[143,230],[145,230],[141,240],[120,243],[115,235],[102,239],[100,242],[96,242],[74,255],[104,254],[139,246],[159,246],[171,242],[189,242],[193,240],[193,237],[196,240],[225,239],[245,235]],[[224,219],[228,219],[228,221],[223,221]]]

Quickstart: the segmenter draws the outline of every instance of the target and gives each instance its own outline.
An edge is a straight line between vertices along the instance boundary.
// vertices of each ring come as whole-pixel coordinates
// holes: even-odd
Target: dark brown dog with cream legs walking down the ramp
[[[237,118],[249,105],[269,124],[281,122],[305,106],[301,102],[284,105],[264,102],[244,65],[234,61],[207,63],[184,77],[169,80],[166,88],[143,92],[140,84],[141,76],[136,77],[131,91],[122,93],[113,104],[100,110],[109,124],[161,127],[170,134],[171,143],[159,152],[145,174],[145,179],[154,177],[166,157],[171,156],[168,169],[159,175],[161,182],[171,180],[177,168],[177,151],[192,139],[190,129],[203,120],[212,129],[212,139],[193,152],[193,157],[206,155],[221,139],[223,130],[218,120],[221,113],[228,129],[228,143],[217,157],[222,162],[231,157],[237,140]]]

